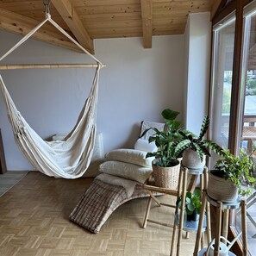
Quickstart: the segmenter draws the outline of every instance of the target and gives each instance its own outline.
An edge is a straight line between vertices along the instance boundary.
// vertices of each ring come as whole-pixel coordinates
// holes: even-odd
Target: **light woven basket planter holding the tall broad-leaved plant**
[[[177,190],[180,163],[172,167],[160,167],[158,165],[154,165],[153,161],[152,168],[153,178],[156,186]]]

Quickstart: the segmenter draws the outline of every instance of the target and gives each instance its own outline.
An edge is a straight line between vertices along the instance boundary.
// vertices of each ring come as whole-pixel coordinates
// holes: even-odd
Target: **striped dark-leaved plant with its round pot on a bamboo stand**
[[[205,165],[205,156],[210,156],[209,149],[222,154],[222,147],[211,140],[203,140],[209,128],[209,116],[203,118],[200,134],[191,133],[188,130],[179,130],[180,139],[175,152],[183,153],[182,164],[188,168],[199,169]]]

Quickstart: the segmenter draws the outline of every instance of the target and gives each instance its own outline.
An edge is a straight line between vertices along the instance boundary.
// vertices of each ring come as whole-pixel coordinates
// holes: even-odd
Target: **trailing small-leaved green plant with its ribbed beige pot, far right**
[[[249,195],[255,185],[253,161],[240,151],[238,156],[222,150],[222,158],[209,171],[207,193],[209,197],[226,203],[237,200],[238,195]]]

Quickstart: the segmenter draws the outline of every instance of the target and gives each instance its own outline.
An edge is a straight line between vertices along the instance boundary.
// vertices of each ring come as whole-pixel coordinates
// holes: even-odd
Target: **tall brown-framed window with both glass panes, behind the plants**
[[[232,153],[240,149],[247,153],[256,174],[256,0],[223,0],[220,6],[213,19],[210,139]],[[215,157],[210,161],[213,167]],[[256,255],[255,213],[254,190],[247,198],[247,240],[252,256]],[[240,232],[240,211],[229,224],[236,234]]]

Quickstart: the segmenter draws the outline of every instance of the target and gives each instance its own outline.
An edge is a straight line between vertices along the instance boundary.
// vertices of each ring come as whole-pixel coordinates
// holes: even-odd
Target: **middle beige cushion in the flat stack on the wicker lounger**
[[[106,161],[100,165],[99,171],[143,184],[150,176],[152,169],[151,167],[142,167],[120,161]]]

